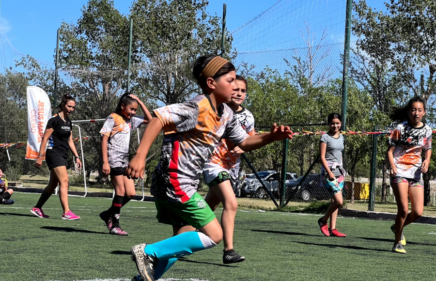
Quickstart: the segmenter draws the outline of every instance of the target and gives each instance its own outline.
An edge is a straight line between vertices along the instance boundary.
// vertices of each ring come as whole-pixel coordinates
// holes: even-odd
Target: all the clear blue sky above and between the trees
[[[234,31],[263,13],[278,0],[210,0],[207,11],[222,15],[227,2],[227,29]],[[77,22],[86,0],[2,0],[0,2],[0,68],[14,66],[20,55],[31,55],[43,64],[54,65],[56,30],[62,21]],[[381,1],[367,0],[369,5]],[[282,0],[274,11],[254,20],[234,34],[238,51],[259,51],[301,47],[304,22],[315,35],[329,27],[327,40],[343,42],[346,0]],[[130,0],[114,0],[115,7],[128,14]],[[267,12],[268,13],[268,12]],[[253,35],[253,33],[255,33]],[[257,36],[257,37],[256,37]],[[237,38],[236,38],[237,37]],[[249,39],[245,39],[249,38]],[[253,40],[252,40],[253,39]],[[9,42],[8,42],[9,40]],[[250,41],[251,40],[251,41]]]

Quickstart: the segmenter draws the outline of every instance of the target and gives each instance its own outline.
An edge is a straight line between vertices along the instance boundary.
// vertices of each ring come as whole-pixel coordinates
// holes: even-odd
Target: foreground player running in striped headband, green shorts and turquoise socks
[[[233,118],[226,103],[236,89],[234,65],[214,55],[200,57],[193,75],[204,94],[182,104],[154,110],[136,155],[125,174],[143,177],[145,158],[163,129],[161,158],[152,179],[157,219],[172,225],[171,238],[131,248],[132,259],[144,281],[159,279],[180,257],[216,246],[222,229],[213,211],[197,193],[204,163],[222,138],[250,151],[273,141],[290,138],[289,127],[273,125],[271,132],[249,136]],[[190,231],[192,227],[199,232]]]

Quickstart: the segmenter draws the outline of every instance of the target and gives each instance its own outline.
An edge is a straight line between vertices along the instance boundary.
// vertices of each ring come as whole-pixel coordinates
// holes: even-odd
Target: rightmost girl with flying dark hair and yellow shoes
[[[398,212],[390,229],[395,234],[393,252],[405,253],[403,229],[422,216],[424,185],[421,173],[428,171],[432,156],[432,129],[421,122],[425,114],[420,97],[412,98],[405,107],[394,108],[390,118],[401,122],[389,136],[388,159],[390,185],[395,195]],[[421,160],[421,150],[425,153]],[[409,213],[410,198],[411,212]]]

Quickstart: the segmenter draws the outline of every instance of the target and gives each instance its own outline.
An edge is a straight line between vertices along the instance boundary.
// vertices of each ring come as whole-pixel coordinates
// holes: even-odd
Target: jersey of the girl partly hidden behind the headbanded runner
[[[242,126],[247,134],[250,136],[255,134],[254,117],[248,109],[243,108],[242,110],[235,111],[234,119]],[[236,182],[241,157],[239,154],[232,152],[234,146],[234,143],[226,139],[218,143],[214,153],[204,164],[203,175],[206,183],[213,181],[220,172],[228,172],[232,178],[232,184]]]

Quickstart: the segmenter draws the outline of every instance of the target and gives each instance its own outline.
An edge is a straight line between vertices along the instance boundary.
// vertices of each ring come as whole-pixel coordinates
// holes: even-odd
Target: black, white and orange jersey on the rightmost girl
[[[397,176],[419,179],[421,177],[421,149],[432,149],[432,129],[428,125],[412,127],[408,122],[397,125],[389,136],[389,145],[395,147],[393,158]]]

